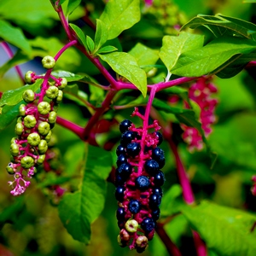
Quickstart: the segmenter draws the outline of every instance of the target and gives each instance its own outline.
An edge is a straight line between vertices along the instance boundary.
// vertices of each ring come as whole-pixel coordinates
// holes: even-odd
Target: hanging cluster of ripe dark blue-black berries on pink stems
[[[143,119],[136,108],[132,115]],[[153,132],[148,133],[151,129]],[[162,135],[157,120],[153,125],[136,128],[130,120],[119,124],[122,132],[116,149],[115,197],[119,201],[116,212],[120,228],[121,247],[129,246],[142,253],[154,236],[156,220],[160,218],[160,202],[164,182],[164,152],[158,146]]]

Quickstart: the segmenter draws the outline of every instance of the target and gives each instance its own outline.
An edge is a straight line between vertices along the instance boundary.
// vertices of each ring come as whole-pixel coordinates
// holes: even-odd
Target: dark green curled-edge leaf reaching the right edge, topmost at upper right
[[[198,26],[206,26],[216,37],[237,35],[254,39],[256,33],[256,25],[253,23],[224,15],[197,15],[192,20],[189,20],[182,29],[187,27],[196,28]]]

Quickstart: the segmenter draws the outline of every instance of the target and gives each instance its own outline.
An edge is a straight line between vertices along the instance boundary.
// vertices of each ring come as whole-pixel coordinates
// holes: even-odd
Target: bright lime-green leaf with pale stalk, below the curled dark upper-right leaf
[[[160,59],[170,71],[177,64],[177,60],[186,51],[201,48],[204,37],[182,32],[179,36],[165,36],[160,49]]]

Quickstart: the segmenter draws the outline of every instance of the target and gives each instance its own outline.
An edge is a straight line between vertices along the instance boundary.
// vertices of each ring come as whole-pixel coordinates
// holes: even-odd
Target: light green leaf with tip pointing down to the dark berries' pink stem
[[[125,77],[138,90],[147,94],[147,76],[143,69],[141,69],[136,59],[125,52],[113,52],[107,55],[99,55],[102,61],[106,61],[113,71]]]

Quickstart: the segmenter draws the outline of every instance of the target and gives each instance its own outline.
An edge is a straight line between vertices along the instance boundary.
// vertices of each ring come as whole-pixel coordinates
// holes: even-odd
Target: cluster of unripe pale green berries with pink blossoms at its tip
[[[46,56],[42,60],[43,67],[51,69],[55,66],[55,59]],[[14,189],[12,195],[21,195],[29,186],[36,167],[43,164],[45,153],[51,137],[51,129],[55,125],[56,111],[62,100],[62,90],[67,85],[67,79],[56,79],[52,75],[37,76],[29,71],[25,75],[27,84],[33,84],[37,79],[44,79],[41,90],[37,94],[33,90],[25,90],[22,97],[26,104],[21,104],[19,117],[15,125],[16,137],[10,145],[11,162],[6,167],[15,180],[9,182]],[[49,82],[49,79],[52,79]]]

